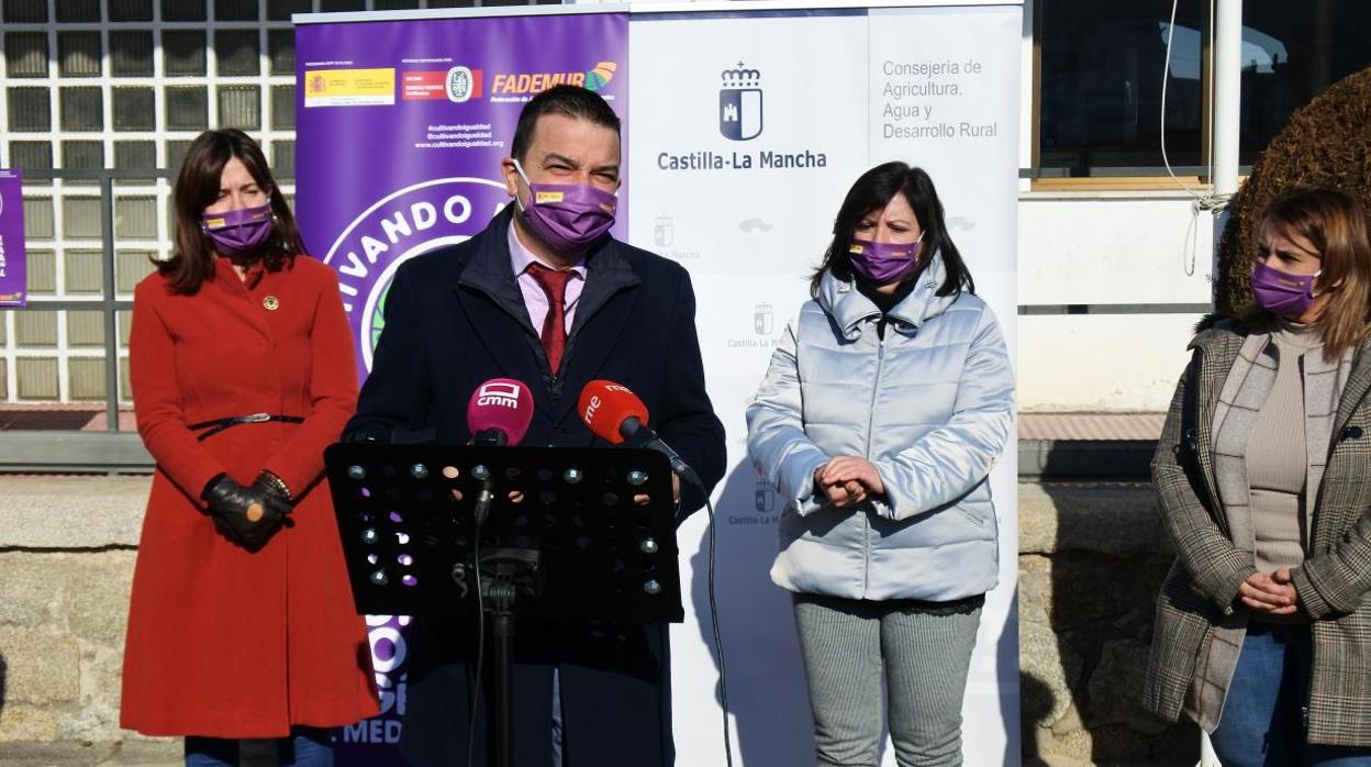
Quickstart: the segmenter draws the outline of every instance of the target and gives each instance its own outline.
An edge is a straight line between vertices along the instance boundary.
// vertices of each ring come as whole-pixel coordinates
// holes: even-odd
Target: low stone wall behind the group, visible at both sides
[[[104,748],[64,763],[145,763],[133,755],[154,744],[119,730],[118,701],[147,488],[147,476],[0,476],[0,763],[34,744]],[[1134,703],[1171,561],[1152,490],[1021,484],[1019,498],[1026,762],[1194,764],[1198,731]]]

